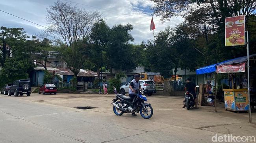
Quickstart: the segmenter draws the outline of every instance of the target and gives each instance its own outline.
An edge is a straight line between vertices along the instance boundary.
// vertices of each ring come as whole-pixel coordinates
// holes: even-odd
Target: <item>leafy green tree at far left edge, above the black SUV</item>
[[[0,27],[0,63],[4,67],[6,58],[10,58],[12,54],[22,47],[28,36],[23,28],[7,28]]]

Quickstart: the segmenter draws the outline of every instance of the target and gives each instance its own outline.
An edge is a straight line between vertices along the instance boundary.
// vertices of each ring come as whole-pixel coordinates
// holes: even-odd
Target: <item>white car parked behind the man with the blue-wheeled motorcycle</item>
[[[130,83],[131,81],[120,87],[121,94],[125,95],[129,92]],[[141,89],[143,90],[143,92],[148,96],[151,96],[153,93],[156,93],[156,85],[152,80],[139,80],[139,83],[141,84]]]

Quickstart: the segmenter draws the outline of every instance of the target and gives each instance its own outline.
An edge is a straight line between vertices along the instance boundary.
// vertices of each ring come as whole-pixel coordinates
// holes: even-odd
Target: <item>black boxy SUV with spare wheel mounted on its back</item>
[[[13,85],[9,87],[8,95],[11,96],[22,96],[23,94],[27,94],[30,96],[31,94],[31,84],[29,80],[16,80],[13,82]]]

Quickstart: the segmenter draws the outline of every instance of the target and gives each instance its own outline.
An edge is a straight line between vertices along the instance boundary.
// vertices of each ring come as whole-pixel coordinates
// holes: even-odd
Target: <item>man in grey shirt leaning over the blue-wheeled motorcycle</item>
[[[129,85],[129,96],[132,99],[134,99],[134,97],[137,95],[137,93],[135,92],[135,89],[141,89],[141,84],[139,84],[139,78],[140,78],[139,74],[135,74],[134,79],[131,81]],[[137,115],[135,113],[132,113],[132,116],[137,116]]]

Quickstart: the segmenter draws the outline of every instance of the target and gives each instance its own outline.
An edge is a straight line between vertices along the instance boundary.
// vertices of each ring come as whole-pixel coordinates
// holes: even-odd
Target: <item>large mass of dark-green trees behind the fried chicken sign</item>
[[[158,49],[158,43],[161,43],[163,49],[165,49],[165,45],[169,45],[167,47],[171,50],[173,55],[183,57],[182,60],[175,60],[175,57],[173,58],[172,56],[169,56],[171,62],[175,63],[175,65],[178,65],[178,67],[181,67],[182,69],[195,70],[198,67],[204,65],[210,65],[224,60],[245,56],[245,46],[225,47],[224,19],[230,16],[237,16],[243,14],[246,15],[245,23],[246,29],[249,30],[250,54],[256,53],[256,28],[254,26],[256,19],[254,13],[254,11],[256,10],[256,0],[152,1],[154,1],[155,3],[154,7],[152,7],[154,13],[157,16],[161,16],[162,20],[168,20],[169,18],[173,18],[181,14],[185,19],[184,22],[177,25],[174,29],[171,30],[171,34],[167,34],[165,30],[161,31],[156,36],[155,47],[157,50],[152,52],[151,50],[154,50],[154,48],[150,48],[153,47],[152,42],[148,42],[146,46],[146,51],[147,49],[150,49],[150,51],[148,52],[149,55],[153,55],[155,53],[158,55],[158,57],[160,57],[156,60],[156,62],[150,61],[153,70],[161,71],[161,69],[156,68],[156,65],[162,67],[160,63],[162,63],[163,61],[162,57],[165,58],[165,54],[161,54],[161,52],[158,51],[160,50]],[[197,5],[198,7],[195,8],[194,6],[190,5],[191,3]],[[202,53],[196,51],[195,48],[197,48]],[[167,54],[169,55],[168,52]],[[171,64],[167,62],[167,65]]]

